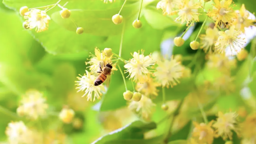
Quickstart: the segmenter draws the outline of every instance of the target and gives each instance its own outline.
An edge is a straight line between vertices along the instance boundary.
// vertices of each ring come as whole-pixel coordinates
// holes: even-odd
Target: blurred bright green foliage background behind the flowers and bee
[[[67,0],[62,0],[64,4]],[[141,21],[143,27],[134,29],[132,22],[136,18],[140,6],[139,0],[128,0],[122,11],[124,22],[114,25],[111,17],[118,13],[124,0],[116,0],[112,4],[104,4],[100,0],[68,0],[66,8],[72,11],[72,18],[85,29],[84,34],[78,35],[75,32],[75,25],[70,20],[63,20],[59,16],[57,7],[49,11],[52,18],[49,30],[36,33],[34,30],[25,30],[22,27],[24,18],[18,11],[22,6],[29,8],[46,6],[55,3],[52,0],[4,0],[0,3],[0,140],[6,141],[5,129],[9,122],[24,120],[16,117],[21,96],[28,89],[37,89],[44,93],[49,104],[49,116],[38,121],[24,120],[28,126],[48,132],[56,130],[67,135],[66,143],[70,144],[90,144],[100,136],[121,128],[130,122],[127,128],[123,128],[119,133],[106,136],[96,144],[156,144],[159,143],[167,132],[170,120],[166,118],[177,106],[177,102],[186,96],[186,106],[182,114],[178,115],[174,123],[173,136],[168,141],[186,140],[192,130],[192,120],[202,121],[199,108],[193,101],[193,96],[188,96],[193,92],[194,86],[200,86],[205,80],[217,80],[217,71],[204,68],[204,57],[202,54],[198,58],[200,70],[196,76],[181,80],[181,84],[166,90],[168,112],[161,107],[162,93],[154,100],[157,104],[156,111],[152,117],[152,123],[144,123],[127,108],[127,102],[122,94],[125,91],[124,82],[120,72],[112,75],[111,83],[106,94],[101,100],[87,102],[86,98],[81,98],[82,92],[77,93],[75,80],[78,74],[84,74],[85,62],[89,58],[89,53],[94,52],[94,48],[100,50],[112,48],[118,53],[120,45],[120,34],[125,26],[122,58],[128,60],[130,53],[141,49],[145,54],[150,52],[160,52],[161,43],[169,38],[174,38],[186,29],[184,24],[175,23],[172,17],[162,15],[160,10],[156,10],[158,0],[144,0]],[[241,4],[245,4],[250,12],[255,11],[256,1],[235,0],[237,9]],[[206,5],[210,8],[211,3]],[[80,9],[81,11],[77,11]],[[102,20],[106,18],[106,20]],[[194,56],[196,51],[191,50],[189,43],[194,40],[198,33],[202,21],[194,27],[194,31],[188,37],[182,47],[175,47],[172,54],[182,54],[182,56]],[[205,31],[205,30],[204,30]],[[234,110],[247,113],[256,110],[256,62],[255,57],[256,40],[252,40],[246,46],[250,52],[248,58],[240,61],[237,68],[232,72],[236,85],[236,90],[232,93],[222,93],[218,96],[202,97],[204,110],[208,119],[216,118],[218,111]],[[182,62],[185,66],[191,60]],[[122,66],[122,63],[120,63]],[[123,68],[123,67],[122,67]],[[195,67],[192,67],[194,71]],[[124,69],[123,69],[124,70]],[[126,75],[127,76],[127,75]],[[217,77],[217,78],[216,78]],[[132,83],[127,79],[128,88],[132,90]],[[226,85],[227,86],[227,85]],[[199,89],[200,90],[200,89]],[[203,96],[203,95],[202,95]],[[62,124],[56,116],[62,106],[68,105],[75,110],[75,118],[81,125]],[[244,110],[244,111],[243,111]],[[12,113],[11,113],[12,112]],[[39,126],[39,124],[42,126]],[[156,128],[157,127],[157,128]],[[155,129],[156,128],[156,129]],[[143,133],[154,129],[144,135]],[[240,139],[234,134],[234,144],[239,144]],[[132,141],[132,139],[136,139]],[[177,141],[176,141],[177,142]],[[186,143],[178,141],[178,143]],[[214,144],[224,144],[221,138],[215,139]],[[176,143],[175,143],[176,144]]]

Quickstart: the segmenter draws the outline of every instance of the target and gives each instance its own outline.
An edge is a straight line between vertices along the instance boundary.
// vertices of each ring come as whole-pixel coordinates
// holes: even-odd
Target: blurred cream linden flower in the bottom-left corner
[[[20,122],[10,122],[6,128],[5,134],[10,144],[26,143],[28,128]]]

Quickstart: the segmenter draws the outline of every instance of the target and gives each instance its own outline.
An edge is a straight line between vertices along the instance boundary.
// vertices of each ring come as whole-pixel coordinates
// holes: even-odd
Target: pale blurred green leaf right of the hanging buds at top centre
[[[172,18],[164,16],[162,12],[156,10],[155,7],[148,6],[143,9],[142,13],[144,14],[146,21],[148,22],[148,24],[150,24],[150,26],[152,26],[152,28],[163,30],[170,26],[180,26],[180,24],[174,22]]]

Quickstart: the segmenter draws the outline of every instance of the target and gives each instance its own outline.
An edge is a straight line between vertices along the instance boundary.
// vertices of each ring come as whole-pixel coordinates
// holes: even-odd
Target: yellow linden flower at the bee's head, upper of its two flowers
[[[106,66],[106,64],[112,64],[111,58],[112,56],[108,57],[104,55],[98,48],[94,49],[95,55],[91,54],[92,58],[90,58],[89,62],[86,62],[87,64],[90,64],[91,66],[88,66],[90,68],[91,73],[97,73],[100,72],[100,67],[103,68]],[[112,70],[117,70],[116,66],[113,65]]]

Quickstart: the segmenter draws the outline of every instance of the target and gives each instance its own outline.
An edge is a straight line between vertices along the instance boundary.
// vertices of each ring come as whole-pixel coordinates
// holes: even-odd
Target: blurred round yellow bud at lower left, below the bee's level
[[[62,122],[69,124],[75,116],[75,112],[72,109],[69,108],[62,108],[59,118],[62,120]]]

